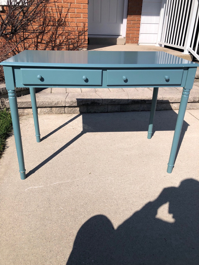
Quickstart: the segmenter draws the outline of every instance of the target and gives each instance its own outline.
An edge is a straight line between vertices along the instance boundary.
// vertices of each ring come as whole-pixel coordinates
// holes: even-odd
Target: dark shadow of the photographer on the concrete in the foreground
[[[174,223],[156,218],[169,202]],[[199,264],[199,182],[183,180],[115,230],[103,215],[91,217],[76,235],[69,264]]]

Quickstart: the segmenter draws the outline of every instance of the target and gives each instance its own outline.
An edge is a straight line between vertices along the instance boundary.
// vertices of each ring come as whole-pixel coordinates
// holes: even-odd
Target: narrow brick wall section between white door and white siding
[[[138,43],[140,33],[140,21],[142,0],[129,0],[127,13],[126,43]]]

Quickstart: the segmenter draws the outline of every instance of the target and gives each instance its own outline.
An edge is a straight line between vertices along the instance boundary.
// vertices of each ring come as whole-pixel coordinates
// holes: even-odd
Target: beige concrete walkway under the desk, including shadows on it
[[[187,110],[172,174],[177,111],[20,118],[0,160],[0,264],[199,264],[199,110]],[[73,245],[74,244],[74,245]]]

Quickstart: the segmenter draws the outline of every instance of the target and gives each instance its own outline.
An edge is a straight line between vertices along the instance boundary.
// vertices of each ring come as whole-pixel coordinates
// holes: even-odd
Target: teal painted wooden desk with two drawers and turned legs
[[[25,165],[15,87],[29,87],[40,142],[35,87],[153,87],[148,139],[159,87],[183,87],[167,172],[171,173],[197,64],[164,52],[23,51],[2,62],[21,179]]]

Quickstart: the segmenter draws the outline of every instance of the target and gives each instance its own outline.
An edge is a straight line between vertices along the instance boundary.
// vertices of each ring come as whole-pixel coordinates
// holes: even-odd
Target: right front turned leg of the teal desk
[[[179,139],[180,139],[180,133],[181,133],[182,126],[183,126],[184,115],[185,115],[185,111],[186,111],[186,107],[187,107],[189,93],[190,93],[190,89],[184,89],[183,88],[183,94],[182,94],[181,101],[180,101],[180,107],[179,107],[179,111],[178,111],[178,118],[177,118],[177,121],[176,121],[174,138],[173,138],[173,142],[172,142],[172,146],[171,146],[171,153],[170,153],[169,163],[168,163],[168,168],[167,168],[167,172],[168,173],[171,173],[172,169],[174,167],[176,151],[177,151],[177,148],[178,148],[178,142],[179,142]]]

